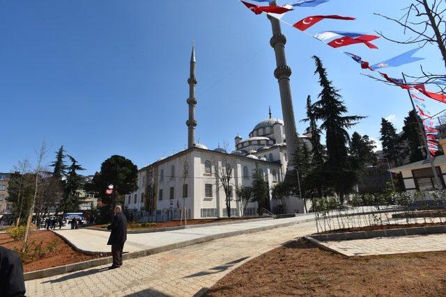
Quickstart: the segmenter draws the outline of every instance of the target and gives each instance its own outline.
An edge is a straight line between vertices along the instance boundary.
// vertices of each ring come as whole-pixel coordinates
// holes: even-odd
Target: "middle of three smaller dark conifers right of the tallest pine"
[[[380,134],[379,140],[383,145],[384,156],[389,163],[392,163],[393,167],[401,165],[401,151],[403,150],[401,138],[392,123],[384,118],[381,118]]]

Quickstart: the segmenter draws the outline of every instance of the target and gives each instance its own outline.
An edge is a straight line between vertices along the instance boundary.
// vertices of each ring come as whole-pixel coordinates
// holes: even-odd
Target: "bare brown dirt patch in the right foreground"
[[[294,241],[236,268],[206,296],[445,296],[446,252],[352,257]]]

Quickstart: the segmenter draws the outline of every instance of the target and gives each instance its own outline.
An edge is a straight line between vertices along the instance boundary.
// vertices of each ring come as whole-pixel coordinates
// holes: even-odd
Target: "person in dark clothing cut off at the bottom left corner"
[[[0,246],[0,296],[25,296],[25,282],[20,257]]]

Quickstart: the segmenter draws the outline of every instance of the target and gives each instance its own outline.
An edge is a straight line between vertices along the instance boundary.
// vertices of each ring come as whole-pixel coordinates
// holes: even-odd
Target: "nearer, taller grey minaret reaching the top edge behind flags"
[[[277,6],[276,1],[272,1],[270,6]],[[280,102],[282,103],[282,114],[284,118],[284,128],[286,137],[286,153],[289,156],[287,171],[294,170],[292,166],[295,162],[291,156],[295,154],[296,129],[293,111],[293,98],[291,97],[290,76],[291,68],[286,65],[285,44],[286,38],[282,34],[280,21],[275,17],[270,17],[272,26],[272,38],[270,45],[275,51],[277,68],[274,70],[274,76],[279,81]]]

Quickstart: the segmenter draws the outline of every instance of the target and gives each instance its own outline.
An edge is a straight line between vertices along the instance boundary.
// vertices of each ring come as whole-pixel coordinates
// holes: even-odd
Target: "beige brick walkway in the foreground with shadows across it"
[[[286,241],[316,231],[314,222],[217,239],[156,255],[26,282],[28,296],[193,296],[226,273]]]

